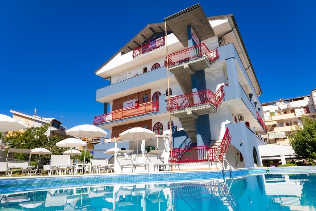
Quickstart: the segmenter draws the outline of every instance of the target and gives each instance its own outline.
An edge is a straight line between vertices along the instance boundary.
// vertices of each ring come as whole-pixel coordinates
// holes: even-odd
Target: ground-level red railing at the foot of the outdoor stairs
[[[192,163],[192,162],[207,162],[208,156],[210,161],[215,161],[216,154],[220,161],[223,161],[221,152],[224,156],[227,153],[230,141],[232,136],[229,133],[228,128],[224,133],[222,143],[220,146],[210,145],[210,146],[192,146],[192,147],[183,147],[183,148],[173,148],[172,156],[169,157],[170,163]]]

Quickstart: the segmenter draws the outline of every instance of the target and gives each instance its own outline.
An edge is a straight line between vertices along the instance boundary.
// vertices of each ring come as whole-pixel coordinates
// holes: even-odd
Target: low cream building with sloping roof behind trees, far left
[[[54,135],[59,135],[65,138],[72,137],[66,134],[66,128],[61,126],[62,122],[55,118],[40,117],[35,115],[34,119],[34,115],[27,115],[14,110],[10,110],[10,112],[13,113],[12,118],[25,125],[25,128],[31,128],[33,126],[39,127],[45,124],[50,124],[51,126],[46,132],[47,136],[52,137]]]

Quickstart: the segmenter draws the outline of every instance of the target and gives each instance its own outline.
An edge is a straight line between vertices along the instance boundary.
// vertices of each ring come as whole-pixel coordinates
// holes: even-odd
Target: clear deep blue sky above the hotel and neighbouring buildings
[[[67,128],[91,124],[103,112],[96,89],[106,85],[94,71],[147,24],[198,3],[111,2],[0,0],[0,114],[37,108],[64,116]],[[206,16],[234,14],[261,102],[316,88],[313,2],[200,1]]]

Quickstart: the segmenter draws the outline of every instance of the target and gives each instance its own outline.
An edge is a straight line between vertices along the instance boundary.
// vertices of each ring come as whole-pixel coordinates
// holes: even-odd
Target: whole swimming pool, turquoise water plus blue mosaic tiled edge
[[[0,210],[314,210],[313,168],[1,179]]]

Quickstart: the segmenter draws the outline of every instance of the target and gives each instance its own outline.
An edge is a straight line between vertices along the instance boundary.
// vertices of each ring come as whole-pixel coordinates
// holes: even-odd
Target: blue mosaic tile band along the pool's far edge
[[[272,167],[274,173],[316,173],[315,166],[302,167]],[[233,177],[266,174],[266,168],[234,169]],[[230,178],[230,171],[225,170],[226,178]],[[171,172],[143,172],[138,174],[103,174],[81,176],[47,176],[47,177],[9,177],[0,179],[0,194],[17,191],[67,188],[73,186],[126,184],[126,183],[153,183],[153,182],[178,182],[189,180],[206,180],[223,178],[222,171],[171,171]]]

